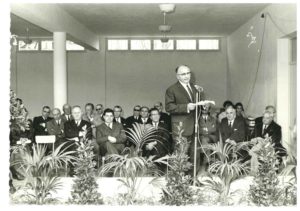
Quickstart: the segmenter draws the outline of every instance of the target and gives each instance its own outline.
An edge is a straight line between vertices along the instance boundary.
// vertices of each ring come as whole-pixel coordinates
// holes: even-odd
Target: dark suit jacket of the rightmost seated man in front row
[[[279,152],[280,156],[285,156],[286,152],[284,147],[281,144],[281,127],[274,121],[271,122],[271,124],[264,130],[264,133],[262,132],[263,129],[263,123],[259,123],[255,125],[254,128],[254,137],[262,137],[265,138],[265,136],[268,134],[268,137],[271,137],[272,142],[275,144],[275,150]]]

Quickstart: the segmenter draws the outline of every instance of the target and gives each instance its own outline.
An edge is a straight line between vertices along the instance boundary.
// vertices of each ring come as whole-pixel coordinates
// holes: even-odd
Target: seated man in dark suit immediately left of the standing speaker
[[[143,149],[143,155],[148,157],[150,155],[156,155],[157,157],[163,157],[166,154],[171,153],[171,139],[168,126],[160,122],[160,113],[156,108],[150,110],[150,119],[152,120],[151,125],[155,128],[155,138],[157,141],[146,144]]]

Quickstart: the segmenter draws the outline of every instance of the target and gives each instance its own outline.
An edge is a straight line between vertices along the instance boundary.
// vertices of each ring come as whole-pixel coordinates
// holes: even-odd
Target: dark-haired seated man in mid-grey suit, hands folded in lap
[[[96,140],[102,156],[120,154],[124,149],[126,134],[122,124],[113,122],[114,111],[105,109],[103,112],[104,123],[96,128]]]

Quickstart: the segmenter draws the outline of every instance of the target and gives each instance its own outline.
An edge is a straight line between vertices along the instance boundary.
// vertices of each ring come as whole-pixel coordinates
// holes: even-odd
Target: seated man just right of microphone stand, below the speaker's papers
[[[210,110],[211,106],[209,104],[206,106],[201,106],[201,115],[199,119],[199,134],[202,145],[216,143],[218,140],[217,119],[211,115]],[[197,168],[200,168],[200,172],[206,170],[208,166],[208,160],[203,152],[201,152],[200,162],[197,162],[197,164]]]

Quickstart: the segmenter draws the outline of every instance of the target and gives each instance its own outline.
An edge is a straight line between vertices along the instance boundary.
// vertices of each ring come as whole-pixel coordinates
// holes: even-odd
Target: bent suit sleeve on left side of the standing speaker
[[[166,111],[170,114],[187,114],[187,104],[177,104],[174,92],[167,89],[165,95]]]

